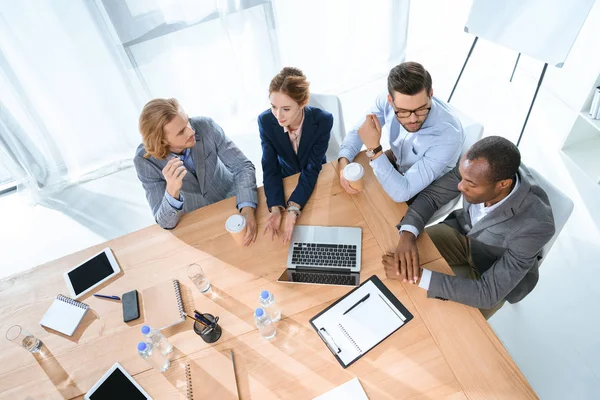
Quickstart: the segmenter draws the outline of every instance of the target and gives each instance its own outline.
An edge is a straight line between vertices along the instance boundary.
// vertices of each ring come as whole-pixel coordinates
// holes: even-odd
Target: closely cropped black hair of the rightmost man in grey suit
[[[510,140],[488,136],[475,143],[466,154],[467,160],[485,159],[490,166],[490,180],[515,179],[521,166],[521,152]]]

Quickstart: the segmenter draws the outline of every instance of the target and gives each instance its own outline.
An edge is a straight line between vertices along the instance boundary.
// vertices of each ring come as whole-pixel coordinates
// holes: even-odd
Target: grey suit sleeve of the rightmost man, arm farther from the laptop
[[[531,221],[518,232],[510,233],[507,250],[480,279],[432,272],[427,297],[442,297],[473,307],[492,308],[521,282],[552,235],[552,223]]]

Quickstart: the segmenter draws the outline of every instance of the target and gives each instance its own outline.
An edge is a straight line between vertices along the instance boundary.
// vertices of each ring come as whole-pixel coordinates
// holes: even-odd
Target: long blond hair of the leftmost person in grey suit
[[[177,99],[154,99],[144,106],[140,114],[139,129],[146,154],[164,160],[169,155],[169,144],[165,139],[164,127],[182,112]]]

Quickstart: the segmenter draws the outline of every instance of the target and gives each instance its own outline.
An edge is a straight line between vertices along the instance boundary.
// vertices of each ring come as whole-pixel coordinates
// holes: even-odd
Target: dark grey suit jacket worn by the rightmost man
[[[481,278],[472,280],[432,272],[428,297],[450,299],[478,308],[492,308],[503,299],[522,300],[539,278],[542,247],[554,235],[554,218],[546,192],[527,167],[519,168],[520,186],[502,205],[474,226],[463,200],[443,222],[470,239],[473,263]],[[400,221],[419,232],[434,212],[460,194],[458,167],[423,190]]]

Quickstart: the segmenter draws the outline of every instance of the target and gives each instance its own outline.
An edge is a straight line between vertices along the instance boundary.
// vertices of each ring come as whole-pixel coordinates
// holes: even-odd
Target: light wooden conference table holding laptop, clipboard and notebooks
[[[0,340],[0,398],[82,398],[116,361],[154,399],[183,398],[184,363],[196,363],[218,382],[219,372],[211,365],[215,357],[229,359],[230,349],[242,399],[311,399],[353,377],[359,378],[370,399],[537,398],[477,309],[428,299],[417,285],[386,278],[381,255],[395,248],[394,225],[407,206],[385,194],[364,154],[358,160],[367,167],[365,190],[355,196],[346,194],[339,184],[337,164],[324,165],[299,224],[360,227],[361,280],[379,276],[414,319],[349,368],[337,363],[309,324],[310,318],[349,289],[277,283],[288,246],[262,236],[268,211],[260,188],[259,237],[251,247],[236,247],[224,229],[225,220],[235,212],[231,198],[185,215],[174,230],[150,226],[0,281],[2,334],[20,324],[45,344],[44,354],[33,355]],[[297,180],[297,176],[285,180],[287,194]],[[451,273],[426,235],[419,237],[418,244],[424,266]],[[39,321],[52,300],[66,294],[63,272],[107,246],[124,273],[98,292],[141,292],[179,279],[186,309],[220,317],[221,339],[214,345],[204,343],[190,321],[169,328],[165,334],[175,351],[171,368],[161,374],[136,352],[142,339],[143,307],[141,318],[126,324],[120,303],[87,296],[82,301],[93,312],[88,312],[73,337],[41,327]],[[200,294],[187,277],[186,267],[194,262],[209,276],[211,295]],[[283,310],[273,341],[260,337],[252,319],[263,289],[275,294]]]

